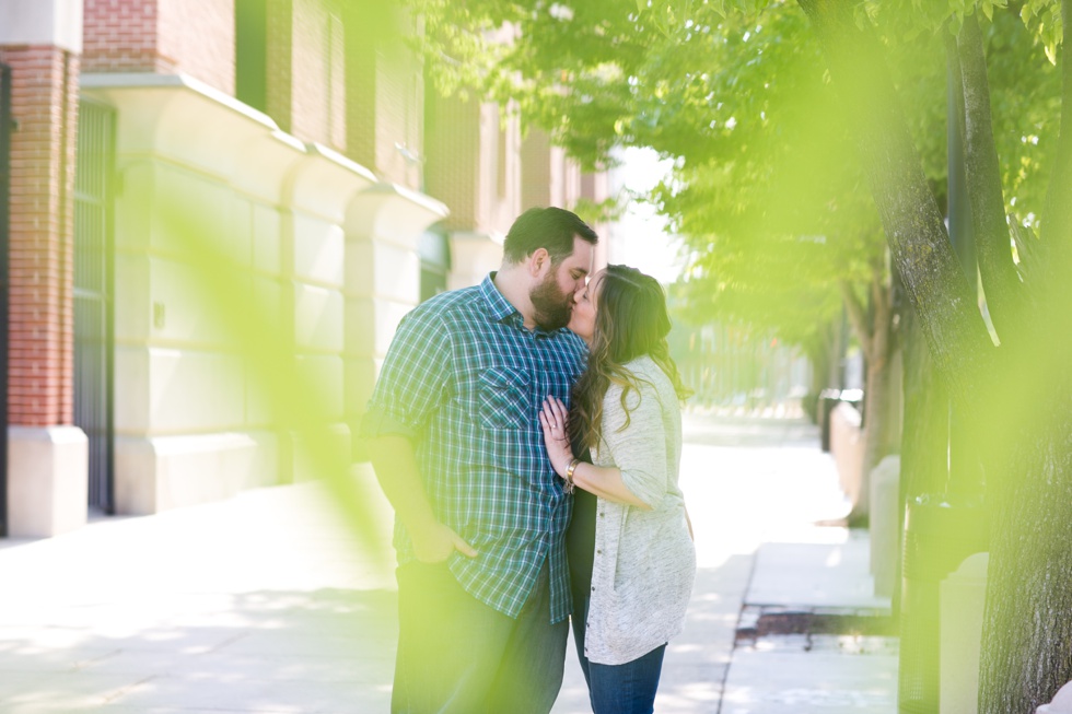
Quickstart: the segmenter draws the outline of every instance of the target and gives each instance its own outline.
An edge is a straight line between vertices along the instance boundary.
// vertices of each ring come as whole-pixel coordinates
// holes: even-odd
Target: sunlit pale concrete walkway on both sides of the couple
[[[815,525],[847,511],[815,429],[691,415],[686,431],[699,573],[656,711],[892,714],[895,641],[777,627],[888,607],[865,534]],[[383,550],[389,510],[354,478]],[[386,712],[393,585],[318,484],[0,540],[0,713]],[[555,712],[587,711],[571,645]]]

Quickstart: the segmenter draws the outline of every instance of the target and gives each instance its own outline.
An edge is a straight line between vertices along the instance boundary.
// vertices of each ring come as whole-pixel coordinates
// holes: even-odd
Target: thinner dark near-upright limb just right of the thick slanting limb
[[[956,48],[957,56],[951,59],[959,61],[964,89],[964,131],[960,136],[971,204],[971,233],[990,318],[1004,341],[1011,339],[1016,326],[1021,325],[1023,289],[1013,264],[1005,221],[1005,199],[990,114],[987,56],[975,15],[964,19]]]

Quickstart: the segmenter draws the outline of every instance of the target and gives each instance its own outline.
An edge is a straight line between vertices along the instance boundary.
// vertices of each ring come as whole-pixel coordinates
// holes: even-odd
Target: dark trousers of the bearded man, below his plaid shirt
[[[516,620],[466,593],[445,563],[397,570],[391,711],[546,714],[562,687],[568,622],[550,624],[547,564]]]

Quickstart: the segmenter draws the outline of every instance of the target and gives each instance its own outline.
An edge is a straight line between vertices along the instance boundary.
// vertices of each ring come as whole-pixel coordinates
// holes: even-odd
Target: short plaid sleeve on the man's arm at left
[[[403,318],[361,420],[361,436],[397,434],[410,441],[446,398],[451,365],[445,324],[430,311]]]

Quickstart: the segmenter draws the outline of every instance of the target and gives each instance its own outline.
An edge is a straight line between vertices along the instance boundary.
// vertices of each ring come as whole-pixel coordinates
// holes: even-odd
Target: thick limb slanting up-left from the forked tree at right
[[[797,0],[815,28],[842,100],[894,264],[951,395],[967,400],[984,377],[992,343],[953,253],[893,81],[853,3]]]

